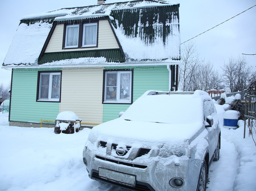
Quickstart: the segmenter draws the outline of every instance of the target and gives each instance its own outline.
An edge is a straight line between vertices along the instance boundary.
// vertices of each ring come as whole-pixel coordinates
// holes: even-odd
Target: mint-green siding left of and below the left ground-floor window
[[[36,102],[38,70],[13,70],[10,121],[55,121],[59,103]]]

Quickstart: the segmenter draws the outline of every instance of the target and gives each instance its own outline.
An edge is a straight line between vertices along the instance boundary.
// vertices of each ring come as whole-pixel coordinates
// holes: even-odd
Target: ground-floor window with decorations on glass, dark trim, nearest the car
[[[132,103],[132,70],[104,70],[103,103]]]

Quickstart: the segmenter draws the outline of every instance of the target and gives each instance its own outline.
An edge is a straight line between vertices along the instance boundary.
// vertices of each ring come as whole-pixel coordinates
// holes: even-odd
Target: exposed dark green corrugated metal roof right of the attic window
[[[125,35],[132,37],[139,36],[146,44],[152,44],[155,36],[159,35],[157,33],[162,31],[160,35],[163,37],[163,43],[165,43],[165,37],[172,32],[172,25],[170,23],[175,18],[179,20],[178,9],[179,4],[112,10],[110,16],[113,16],[115,19],[111,23],[117,28],[117,20],[119,27],[122,25]],[[162,23],[163,28],[156,30],[155,23]],[[179,28],[179,24],[177,27]]]

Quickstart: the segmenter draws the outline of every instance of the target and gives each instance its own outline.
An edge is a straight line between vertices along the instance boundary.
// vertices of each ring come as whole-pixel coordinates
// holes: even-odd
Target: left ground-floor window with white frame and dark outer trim
[[[38,72],[37,101],[60,101],[61,72]]]

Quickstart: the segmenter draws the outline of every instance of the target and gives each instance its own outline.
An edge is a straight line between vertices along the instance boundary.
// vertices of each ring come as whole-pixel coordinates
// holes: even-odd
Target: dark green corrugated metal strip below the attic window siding
[[[42,58],[38,60],[38,65],[51,63],[54,61],[72,59],[72,58],[88,58],[88,57],[105,57],[106,62],[123,63],[123,57],[120,49],[97,50],[97,51],[72,51],[72,52],[55,52],[44,53]]]

